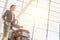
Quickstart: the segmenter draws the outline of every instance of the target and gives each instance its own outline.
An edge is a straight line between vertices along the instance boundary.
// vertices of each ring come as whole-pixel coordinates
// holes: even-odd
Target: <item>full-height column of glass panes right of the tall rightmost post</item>
[[[59,0],[51,0],[48,40],[59,40]]]

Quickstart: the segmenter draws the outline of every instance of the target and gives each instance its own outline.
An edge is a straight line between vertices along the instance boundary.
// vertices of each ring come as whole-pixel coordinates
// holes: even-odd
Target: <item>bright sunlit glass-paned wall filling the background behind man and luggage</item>
[[[29,31],[29,40],[59,40],[60,0],[0,0],[0,40],[4,30],[2,15],[12,4],[16,6],[13,13],[17,24]]]

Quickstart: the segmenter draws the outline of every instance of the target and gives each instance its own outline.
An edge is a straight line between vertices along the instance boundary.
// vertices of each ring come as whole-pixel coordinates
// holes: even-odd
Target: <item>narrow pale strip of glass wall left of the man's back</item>
[[[0,0],[0,40],[1,40],[1,36],[3,34],[3,20],[2,20],[2,14],[3,14],[3,10],[5,8],[5,0]]]

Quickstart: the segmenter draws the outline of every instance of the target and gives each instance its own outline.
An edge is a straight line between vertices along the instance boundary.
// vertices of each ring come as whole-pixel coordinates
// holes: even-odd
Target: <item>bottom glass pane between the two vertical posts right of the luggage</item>
[[[33,40],[46,40],[46,31],[40,28],[35,28]]]

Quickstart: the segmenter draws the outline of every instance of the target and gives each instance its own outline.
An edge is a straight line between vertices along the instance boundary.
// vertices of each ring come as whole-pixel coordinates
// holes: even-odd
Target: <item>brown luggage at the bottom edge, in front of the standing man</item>
[[[29,31],[25,29],[14,30],[12,32],[12,40],[29,40]]]

